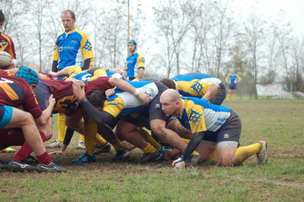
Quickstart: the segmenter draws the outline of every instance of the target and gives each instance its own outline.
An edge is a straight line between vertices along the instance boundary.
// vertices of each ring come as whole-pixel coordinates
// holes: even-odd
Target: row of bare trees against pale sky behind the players
[[[141,4],[133,5],[130,35],[148,58],[146,76],[192,71],[223,80],[235,68],[254,98],[255,84],[282,83],[287,91],[304,91],[304,39],[294,34],[284,12],[263,16],[252,8],[241,17],[230,1],[168,0],[158,1],[153,16],[147,16]],[[2,31],[12,37],[20,65],[34,62],[51,69],[55,38],[63,31],[60,15],[70,9],[76,26],[91,38],[95,66],[125,66],[126,0],[0,0],[0,8],[7,19]]]

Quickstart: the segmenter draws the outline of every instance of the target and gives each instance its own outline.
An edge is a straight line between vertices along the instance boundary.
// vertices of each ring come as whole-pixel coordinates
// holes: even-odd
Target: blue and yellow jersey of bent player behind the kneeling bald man
[[[172,78],[179,94],[185,97],[202,98],[212,83],[220,84],[221,81],[211,75],[202,73],[179,74]]]

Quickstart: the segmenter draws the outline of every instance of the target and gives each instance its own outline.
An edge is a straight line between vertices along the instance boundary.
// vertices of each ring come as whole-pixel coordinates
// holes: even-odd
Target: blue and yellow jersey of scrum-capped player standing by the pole
[[[125,70],[127,71],[127,77],[136,77],[138,75],[138,68],[144,68],[144,57],[141,53],[134,52],[128,55]]]

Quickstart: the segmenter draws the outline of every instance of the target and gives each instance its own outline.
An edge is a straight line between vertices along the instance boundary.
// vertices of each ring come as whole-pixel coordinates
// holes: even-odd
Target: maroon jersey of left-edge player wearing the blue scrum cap
[[[0,70],[0,105],[23,106],[34,118],[42,114],[35,94],[26,81],[17,76],[9,76],[3,70]]]

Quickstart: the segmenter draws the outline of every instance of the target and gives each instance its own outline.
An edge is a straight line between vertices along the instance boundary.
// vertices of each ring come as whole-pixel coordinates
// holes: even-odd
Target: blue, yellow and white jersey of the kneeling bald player
[[[230,116],[230,109],[227,107],[210,104],[195,97],[181,98],[183,106],[178,119],[192,133],[217,131]]]

